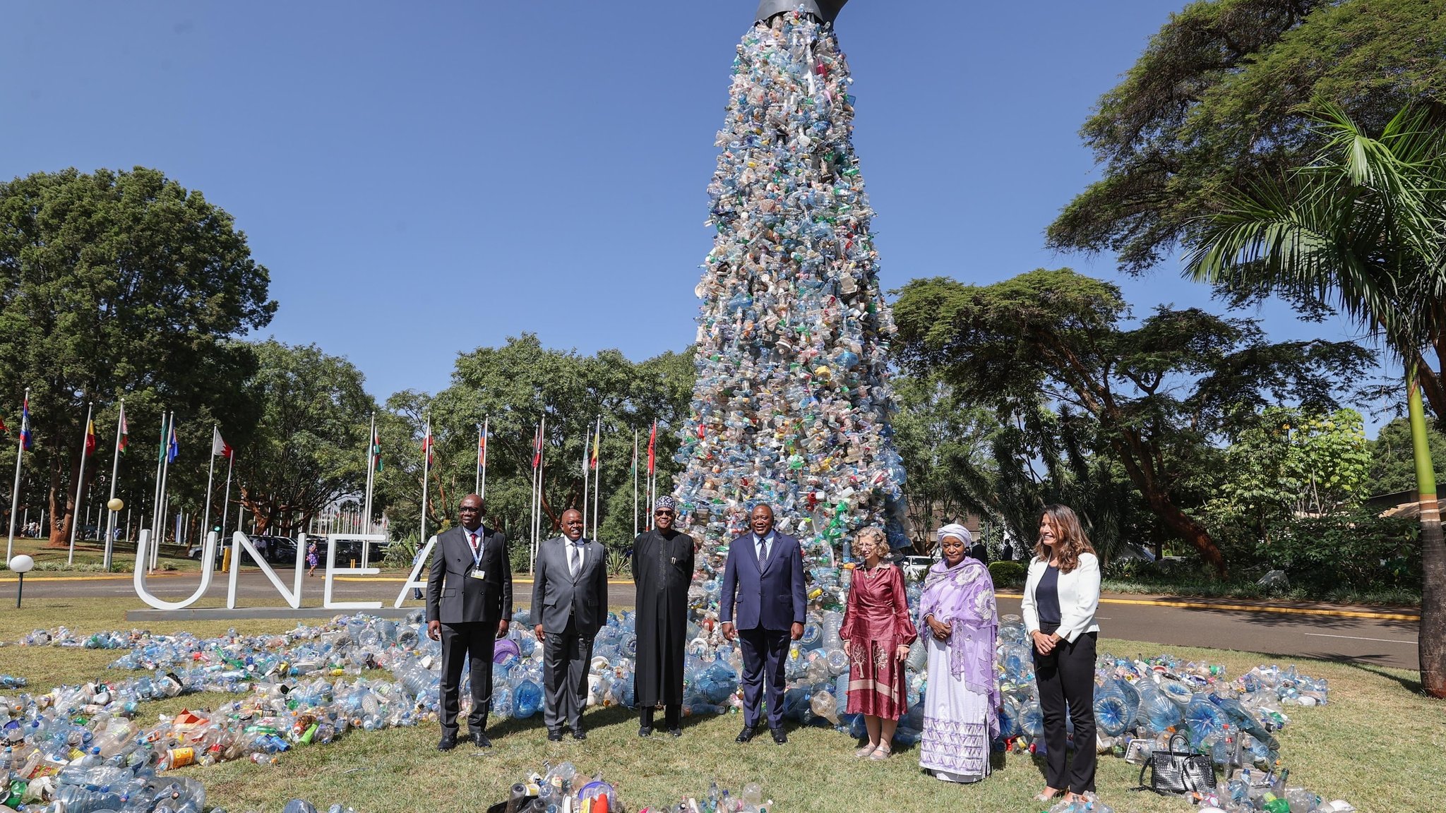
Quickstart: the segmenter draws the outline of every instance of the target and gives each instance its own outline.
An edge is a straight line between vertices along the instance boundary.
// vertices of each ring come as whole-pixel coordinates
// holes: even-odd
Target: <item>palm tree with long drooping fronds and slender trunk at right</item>
[[[1310,166],[1231,191],[1197,221],[1186,275],[1242,298],[1335,305],[1403,362],[1421,511],[1421,686],[1446,697],[1446,544],[1421,405],[1424,386],[1446,418],[1446,129],[1411,108],[1379,137],[1333,104],[1319,122],[1327,146]]]

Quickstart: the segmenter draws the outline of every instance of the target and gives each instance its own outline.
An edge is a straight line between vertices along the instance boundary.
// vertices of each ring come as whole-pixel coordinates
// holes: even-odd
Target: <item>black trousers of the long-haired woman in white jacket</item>
[[[1053,632],[1041,628],[1041,632]],[[1095,639],[1084,632],[1073,644],[1060,638],[1048,655],[1034,651],[1034,680],[1044,712],[1045,783],[1057,790],[1095,790]],[[1064,705],[1074,720],[1074,759],[1064,768]]]

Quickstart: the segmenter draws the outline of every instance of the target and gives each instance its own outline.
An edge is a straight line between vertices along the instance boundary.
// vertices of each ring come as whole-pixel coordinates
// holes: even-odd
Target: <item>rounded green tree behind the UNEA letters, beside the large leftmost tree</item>
[[[260,421],[237,447],[236,477],[257,531],[291,535],[322,508],[362,492],[376,401],[356,366],[315,344],[269,340],[254,350],[259,369],[247,393],[260,405]]]

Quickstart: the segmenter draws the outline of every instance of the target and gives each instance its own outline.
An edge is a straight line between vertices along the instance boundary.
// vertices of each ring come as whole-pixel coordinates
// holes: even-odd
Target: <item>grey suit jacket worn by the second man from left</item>
[[[603,545],[591,540],[574,579],[567,567],[567,537],[557,537],[538,547],[536,573],[532,576],[532,623],[542,632],[561,634],[568,616],[584,637],[597,635],[607,621],[607,560]]]

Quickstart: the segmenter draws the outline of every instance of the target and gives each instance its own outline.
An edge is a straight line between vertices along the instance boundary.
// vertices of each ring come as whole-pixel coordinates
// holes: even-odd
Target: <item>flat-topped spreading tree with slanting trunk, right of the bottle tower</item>
[[[1362,372],[1353,343],[1265,341],[1252,320],[1157,308],[1128,327],[1119,288],[1070,269],[993,285],[915,279],[895,305],[899,357],[993,401],[1008,420],[1044,398],[1098,421],[1098,438],[1160,522],[1218,571],[1226,563],[1181,499],[1209,441],[1267,395],[1336,408],[1335,375]],[[1327,375],[1329,373],[1329,375]]]

